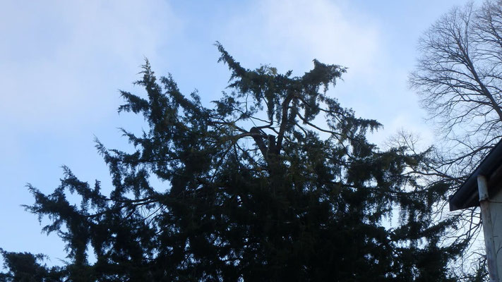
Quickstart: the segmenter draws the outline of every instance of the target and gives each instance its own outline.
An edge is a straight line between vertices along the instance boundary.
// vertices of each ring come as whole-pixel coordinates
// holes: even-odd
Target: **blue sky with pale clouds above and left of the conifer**
[[[50,193],[62,165],[81,180],[110,185],[95,149],[127,148],[117,128],[141,118],[117,114],[119,90],[132,85],[148,58],[157,75],[172,73],[181,92],[198,90],[210,106],[225,89],[227,67],[216,41],[246,68],[270,64],[301,75],[312,60],[346,66],[330,94],[384,128],[383,144],[405,129],[434,144],[407,76],[417,40],[458,0],[16,1],[0,9],[0,247],[65,258],[56,234],[41,233],[31,183]],[[47,221],[42,221],[42,223]]]

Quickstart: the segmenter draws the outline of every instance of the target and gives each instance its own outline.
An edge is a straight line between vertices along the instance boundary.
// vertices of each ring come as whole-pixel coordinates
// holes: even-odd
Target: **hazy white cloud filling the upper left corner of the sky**
[[[0,118],[27,128],[88,123],[116,108],[180,22],[165,1],[8,1],[0,12]],[[114,111],[112,111],[113,114]]]

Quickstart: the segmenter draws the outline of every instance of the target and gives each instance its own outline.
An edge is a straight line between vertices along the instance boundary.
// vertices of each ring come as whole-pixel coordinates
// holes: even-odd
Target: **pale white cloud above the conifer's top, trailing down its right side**
[[[372,15],[355,13],[345,1],[261,0],[227,24],[223,44],[244,66],[271,63],[294,75],[312,68],[312,59],[348,67],[331,92],[343,106],[376,118],[369,104],[388,80],[386,42]],[[250,63],[252,61],[253,63]]]

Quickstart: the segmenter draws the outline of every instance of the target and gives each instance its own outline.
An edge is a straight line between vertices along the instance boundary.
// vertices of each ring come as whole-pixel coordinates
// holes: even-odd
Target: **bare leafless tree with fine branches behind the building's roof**
[[[419,50],[410,85],[441,138],[433,177],[453,192],[502,137],[502,1],[453,8],[425,32]],[[479,214],[455,216],[463,226],[456,238],[477,238]]]

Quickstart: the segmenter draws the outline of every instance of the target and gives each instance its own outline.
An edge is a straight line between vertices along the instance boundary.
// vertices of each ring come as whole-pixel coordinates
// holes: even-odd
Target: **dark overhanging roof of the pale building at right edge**
[[[465,180],[455,194],[450,196],[450,211],[479,206],[477,190],[477,176],[485,176],[488,180],[489,193],[494,192],[498,185],[494,183],[502,180],[502,140],[499,141],[488,155],[477,166],[473,173]]]

